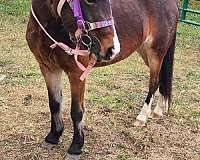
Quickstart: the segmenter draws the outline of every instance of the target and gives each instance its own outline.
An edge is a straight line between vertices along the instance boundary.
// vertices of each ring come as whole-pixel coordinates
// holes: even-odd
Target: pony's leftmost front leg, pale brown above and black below
[[[51,111],[51,130],[45,138],[43,147],[51,147],[58,144],[59,138],[64,130],[62,121],[62,70],[50,70],[46,65],[40,64],[40,69],[43,73],[46,87],[48,90],[49,107]]]

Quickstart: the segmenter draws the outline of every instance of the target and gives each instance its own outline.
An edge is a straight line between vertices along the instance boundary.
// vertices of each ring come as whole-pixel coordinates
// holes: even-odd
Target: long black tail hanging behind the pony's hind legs
[[[172,78],[173,78],[173,64],[174,64],[174,52],[175,52],[176,34],[174,35],[173,41],[167,50],[164,57],[161,71],[160,71],[160,86],[159,91],[168,99],[168,106],[170,106],[172,100]]]

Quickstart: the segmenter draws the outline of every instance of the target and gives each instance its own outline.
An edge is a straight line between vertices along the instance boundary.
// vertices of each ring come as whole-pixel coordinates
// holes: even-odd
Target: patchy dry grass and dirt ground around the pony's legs
[[[72,139],[69,82],[63,76],[62,142],[45,150],[41,143],[50,127],[47,91],[25,41],[26,24],[27,17],[0,18],[0,160],[63,159]],[[200,28],[178,27],[169,115],[136,128],[148,77],[137,53],[89,76],[82,160],[200,159]]]

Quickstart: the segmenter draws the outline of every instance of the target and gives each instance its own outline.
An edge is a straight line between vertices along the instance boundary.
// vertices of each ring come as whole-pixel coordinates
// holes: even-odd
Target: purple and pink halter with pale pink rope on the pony
[[[85,78],[91,73],[92,68],[95,66],[95,64],[97,62],[97,57],[98,57],[97,52],[99,52],[99,51],[97,51],[96,49],[92,49],[91,48],[92,44],[95,43],[98,48],[100,47],[99,40],[94,36],[91,37],[88,34],[88,32],[91,31],[91,30],[99,29],[99,28],[114,26],[114,20],[113,20],[113,18],[111,18],[109,20],[103,20],[103,21],[99,21],[99,22],[85,21],[84,18],[83,18],[81,6],[80,6],[80,0],[60,0],[59,3],[58,3],[58,6],[57,6],[57,12],[58,12],[58,15],[60,17],[61,17],[62,8],[63,8],[65,2],[69,3],[70,7],[73,10],[74,17],[77,19],[78,29],[77,29],[76,33],[78,33],[78,35],[79,35],[79,40],[76,43],[81,42],[83,45],[85,45],[88,48],[88,50],[80,50],[78,44],[76,45],[76,49],[72,49],[62,42],[57,42],[45,30],[45,28],[43,27],[43,25],[40,23],[37,16],[35,15],[32,7],[31,7],[31,12],[32,12],[33,17],[37,21],[38,25],[40,26],[40,28],[54,42],[54,44],[51,45],[50,47],[52,49],[55,49],[57,46],[59,46],[61,49],[63,49],[65,51],[65,53],[67,53],[70,56],[71,55],[74,56],[74,59],[76,61],[77,66],[79,67],[80,70],[83,71],[83,74],[81,75],[80,80],[84,81]],[[91,55],[91,59],[90,59],[89,64],[86,68],[86,67],[83,66],[83,64],[81,64],[78,61],[78,56],[89,56],[89,55]]]

